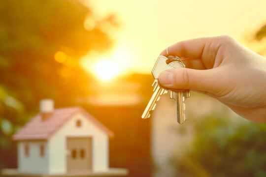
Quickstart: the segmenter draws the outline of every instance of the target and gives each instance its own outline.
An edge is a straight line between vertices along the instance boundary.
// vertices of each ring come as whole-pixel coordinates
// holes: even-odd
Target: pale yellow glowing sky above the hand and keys
[[[160,52],[185,39],[231,35],[245,44],[266,23],[266,0],[89,0],[96,14],[114,13],[125,70],[150,73]],[[114,48],[116,50],[116,48]]]

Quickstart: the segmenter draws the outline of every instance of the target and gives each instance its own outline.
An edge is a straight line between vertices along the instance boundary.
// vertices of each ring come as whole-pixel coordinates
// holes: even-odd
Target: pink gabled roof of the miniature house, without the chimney
[[[76,113],[85,115],[89,120],[95,123],[96,126],[100,127],[104,132],[106,132],[109,137],[114,136],[113,132],[111,132],[108,128],[101,124],[100,121],[92,117],[81,107],[69,107],[55,109],[52,115],[44,121],[41,119],[40,114],[36,115],[29,123],[27,123],[13,136],[13,140],[47,140]]]

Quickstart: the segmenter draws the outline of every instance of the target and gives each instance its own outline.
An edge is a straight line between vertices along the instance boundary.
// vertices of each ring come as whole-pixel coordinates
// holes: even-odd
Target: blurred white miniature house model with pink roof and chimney
[[[41,100],[40,113],[13,136],[18,141],[18,172],[108,171],[111,136],[81,107],[54,110],[53,100]]]

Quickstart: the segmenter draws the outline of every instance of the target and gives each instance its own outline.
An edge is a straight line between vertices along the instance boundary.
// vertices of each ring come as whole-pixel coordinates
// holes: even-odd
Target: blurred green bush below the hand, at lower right
[[[191,148],[170,159],[177,176],[266,176],[266,125],[232,122],[224,116],[210,115],[196,124]]]

